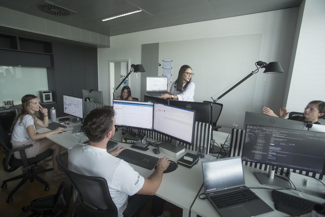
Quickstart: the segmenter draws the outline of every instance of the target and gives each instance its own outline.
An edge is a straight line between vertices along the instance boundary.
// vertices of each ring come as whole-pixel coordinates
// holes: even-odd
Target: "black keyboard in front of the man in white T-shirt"
[[[143,154],[130,149],[125,149],[116,157],[123,159],[128,163],[135,164],[139,167],[143,167],[149,170],[154,169],[157,161],[159,160],[158,157],[153,157],[151,155]]]

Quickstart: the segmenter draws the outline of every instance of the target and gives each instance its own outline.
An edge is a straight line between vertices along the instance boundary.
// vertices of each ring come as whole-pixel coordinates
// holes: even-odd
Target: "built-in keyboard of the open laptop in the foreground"
[[[242,204],[245,202],[253,201],[259,199],[256,194],[248,188],[231,191],[224,194],[218,194],[210,196],[213,203],[219,208],[225,208],[228,206],[233,206],[236,204]]]

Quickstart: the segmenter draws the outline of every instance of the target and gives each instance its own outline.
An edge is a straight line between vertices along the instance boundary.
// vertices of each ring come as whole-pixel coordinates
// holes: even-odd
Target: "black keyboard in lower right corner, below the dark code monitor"
[[[272,198],[275,209],[291,216],[311,211],[316,204],[313,201],[277,190],[272,190]]]

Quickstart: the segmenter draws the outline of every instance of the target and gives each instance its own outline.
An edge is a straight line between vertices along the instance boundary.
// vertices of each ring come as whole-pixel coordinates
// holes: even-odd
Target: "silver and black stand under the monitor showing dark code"
[[[268,174],[255,172],[254,175],[263,185],[280,188],[291,188],[290,183],[286,178],[274,176],[274,166],[269,166]]]

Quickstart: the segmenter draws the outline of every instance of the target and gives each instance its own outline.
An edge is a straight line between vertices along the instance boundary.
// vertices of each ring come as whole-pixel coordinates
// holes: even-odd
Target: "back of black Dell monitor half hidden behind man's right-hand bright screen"
[[[170,100],[169,105],[176,106],[184,109],[195,110],[195,121],[203,123],[211,123],[211,104],[210,103],[200,103],[200,102],[187,102],[187,101],[178,101]]]

